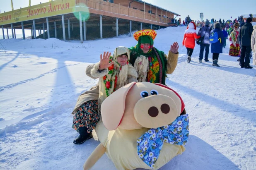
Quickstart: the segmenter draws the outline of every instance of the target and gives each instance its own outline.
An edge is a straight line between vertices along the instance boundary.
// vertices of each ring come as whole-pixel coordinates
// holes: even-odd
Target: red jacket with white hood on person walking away
[[[188,28],[185,31],[182,45],[185,45],[186,48],[195,48],[195,40],[200,38],[200,36],[196,35],[196,24],[194,22],[190,22],[188,24]]]

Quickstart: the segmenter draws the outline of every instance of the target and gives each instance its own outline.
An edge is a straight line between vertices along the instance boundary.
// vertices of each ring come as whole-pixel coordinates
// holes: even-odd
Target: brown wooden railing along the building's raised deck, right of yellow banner
[[[76,0],[76,6],[85,6],[85,7],[96,9],[96,10],[111,12],[115,14],[122,14],[130,17],[141,18],[141,19],[147,19],[150,21],[155,21],[155,22],[160,22],[165,24],[168,24],[167,22],[169,22],[167,18],[164,18],[161,16],[158,16],[157,18],[157,15],[155,14],[142,12],[140,10],[135,10],[122,5],[105,2],[103,0]]]

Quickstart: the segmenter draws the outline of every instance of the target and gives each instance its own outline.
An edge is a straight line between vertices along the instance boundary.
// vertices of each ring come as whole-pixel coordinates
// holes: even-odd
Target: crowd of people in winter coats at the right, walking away
[[[213,53],[213,66],[220,67],[218,65],[218,59],[222,48],[226,48],[227,39],[231,42],[229,47],[229,55],[237,56],[239,59],[239,65],[241,68],[251,69],[250,58],[252,57],[252,50],[255,51],[255,29],[256,26],[252,26],[252,15],[244,22],[243,17],[238,17],[233,21],[223,20],[216,21],[211,19],[211,22],[206,19],[206,22],[190,22],[184,33],[184,39],[182,45],[187,48],[187,62],[191,61],[191,55],[195,47],[195,40],[200,45],[200,53],[198,61],[201,63],[203,60],[203,53],[205,50],[205,62],[208,62],[209,48],[211,44],[211,53]],[[196,27],[201,24],[201,27],[196,34]],[[253,32],[254,31],[254,32]],[[256,56],[254,55],[253,63],[256,64]]]

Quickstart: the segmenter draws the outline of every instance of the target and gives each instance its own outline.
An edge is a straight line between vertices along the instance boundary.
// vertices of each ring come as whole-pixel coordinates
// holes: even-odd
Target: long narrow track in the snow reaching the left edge
[[[81,63],[77,63],[77,64],[73,64],[73,65],[79,65],[79,64],[81,64]],[[22,80],[22,81],[19,81],[19,82],[17,82],[17,83],[8,84],[8,85],[6,85],[6,86],[0,86],[0,92],[1,92],[1,91],[4,91],[4,90],[6,90],[6,89],[11,89],[11,88],[13,88],[13,87],[15,87],[15,86],[18,86],[18,85],[20,85],[20,84],[27,83],[28,81],[33,81],[33,80],[35,80],[35,79],[39,79],[40,77],[43,77],[43,76],[45,76],[45,75],[47,75],[47,74],[51,74],[51,73],[57,72],[58,69],[61,69],[61,68],[63,68],[63,67],[73,66],[73,65],[65,65],[65,66],[62,66],[62,67],[59,67],[59,68],[52,69],[51,71],[46,72],[46,73],[43,73],[43,74],[39,75],[38,77],[34,77],[34,78],[31,78],[31,79],[27,79],[27,80]]]

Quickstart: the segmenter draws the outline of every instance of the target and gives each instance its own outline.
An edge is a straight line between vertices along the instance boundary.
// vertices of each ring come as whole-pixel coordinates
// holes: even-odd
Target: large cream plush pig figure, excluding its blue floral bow
[[[184,114],[184,107],[181,97],[162,84],[134,82],[118,89],[101,105],[102,121],[95,128],[101,144],[87,159],[84,169],[90,169],[104,153],[118,170],[161,168],[185,151],[186,141],[183,144],[163,142],[155,163],[151,161],[154,157],[147,156],[147,160],[150,160],[149,165],[142,156],[139,156],[138,140],[143,134],[150,132],[150,129],[171,125],[177,117]],[[150,138],[152,139],[152,135]],[[141,146],[143,147],[143,144]],[[143,154],[145,156],[148,153]]]

